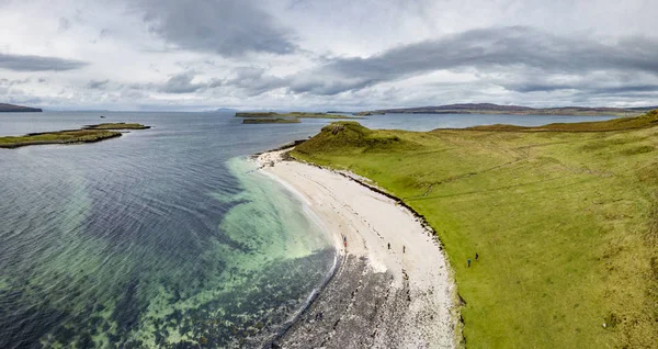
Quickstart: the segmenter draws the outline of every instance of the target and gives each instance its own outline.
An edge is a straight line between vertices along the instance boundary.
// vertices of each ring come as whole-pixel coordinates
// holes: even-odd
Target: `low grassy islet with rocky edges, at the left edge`
[[[145,126],[136,123],[111,123],[87,125],[80,130],[65,130],[55,132],[31,133],[24,136],[7,136],[0,137],[0,148],[19,148],[30,145],[44,144],[79,144],[94,143],[122,135],[122,130],[146,130],[150,126]]]

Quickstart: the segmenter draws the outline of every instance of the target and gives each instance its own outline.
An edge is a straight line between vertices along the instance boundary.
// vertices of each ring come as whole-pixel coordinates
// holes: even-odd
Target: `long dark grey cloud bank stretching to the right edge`
[[[658,42],[644,37],[604,44],[524,26],[496,27],[405,45],[368,58],[330,59],[294,77],[291,90],[337,94],[434,70],[535,69],[540,74],[574,75],[627,70],[658,75],[656,57]]]

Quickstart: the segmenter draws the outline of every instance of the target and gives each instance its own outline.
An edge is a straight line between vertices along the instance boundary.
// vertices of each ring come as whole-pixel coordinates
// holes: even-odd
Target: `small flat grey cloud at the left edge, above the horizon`
[[[23,56],[0,54],[0,69],[15,71],[64,71],[86,67],[88,63],[45,56]]]

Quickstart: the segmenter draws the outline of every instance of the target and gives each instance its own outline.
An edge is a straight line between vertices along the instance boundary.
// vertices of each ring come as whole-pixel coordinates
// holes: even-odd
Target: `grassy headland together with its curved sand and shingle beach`
[[[450,347],[455,328],[457,341],[475,348],[653,347],[657,126],[658,111],[602,122],[431,132],[336,122],[287,154],[261,155],[264,171],[297,190],[328,229],[349,241],[345,267],[332,279],[340,281],[279,342]],[[371,188],[374,201],[361,192]],[[397,213],[385,211],[387,200],[427,222],[442,251],[415,241],[419,234],[402,217],[389,222]],[[418,256],[439,259],[426,264]],[[463,328],[445,313],[451,286],[443,268],[456,282]],[[400,269],[405,282],[395,286]],[[430,270],[438,274],[426,279]],[[373,280],[383,271],[393,274],[393,286]],[[400,290],[410,292],[406,302],[412,303],[397,299]],[[409,323],[396,308],[428,311],[413,315],[417,335],[405,336]],[[314,322],[318,312],[340,336]],[[390,315],[399,326],[387,323]],[[385,333],[415,342],[387,342]]]

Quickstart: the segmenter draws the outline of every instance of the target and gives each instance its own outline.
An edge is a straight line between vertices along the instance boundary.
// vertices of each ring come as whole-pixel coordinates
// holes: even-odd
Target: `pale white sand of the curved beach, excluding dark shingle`
[[[389,283],[387,288],[393,293],[400,294],[404,290],[406,294],[404,309],[398,311],[397,315],[372,316],[372,322],[382,324],[371,326],[375,329],[373,339],[367,341],[370,346],[390,348],[390,338],[395,337],[395,347],[455,347],[454,283],[445,257],[429,232],[411,212],[397,205],[392,199],[337,172],[297,161],[282,161],[283,151],[260,155],[258,160],[262,170],[303,198],[324,228],[331,234],[343,258],[364,260],[367,272],[393,275],[386,279]],[[347,249],[343,247],[342,236],[347,237]],[[338,279],[332,282],[341,281]],[[373,297],[376,296],[377,293],[374,293]],[[386,302],[398,304],[386,305]],[[401,306],[398,301],[386,302],[383,307]],[[377,308],[374,312],[384,314],[384,311]],[[345,311],[337,316],[354,314]],[[333,331],[336,327],[334,325]],[[387,335],[386,331],[393,328],[395,336]],[[338,338],[341,334],[328,336]],[[332,347],[332,341],[324,342],[328,344],[327,347]],[[341,340],[333,342],[338,346]],[[304,346],[297,344],[296,347]]]

